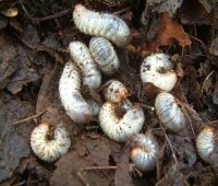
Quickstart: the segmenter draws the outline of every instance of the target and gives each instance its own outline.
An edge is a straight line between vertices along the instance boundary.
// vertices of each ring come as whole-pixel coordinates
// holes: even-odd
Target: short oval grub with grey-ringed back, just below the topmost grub
[[[105,73],[111,74],[119,69],[120,61],[112,45],[107,38],[93,37],[89,42],[89,49],[93,58],[98,63],[98,67]]]

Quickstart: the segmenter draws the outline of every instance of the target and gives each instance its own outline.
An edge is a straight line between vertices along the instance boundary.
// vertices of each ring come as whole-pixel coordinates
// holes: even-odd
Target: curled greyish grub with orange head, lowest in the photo
[[[152,171],[159,156],[159,147],[154,137],[135,133],[129,140],[130,158],[142,171]]]

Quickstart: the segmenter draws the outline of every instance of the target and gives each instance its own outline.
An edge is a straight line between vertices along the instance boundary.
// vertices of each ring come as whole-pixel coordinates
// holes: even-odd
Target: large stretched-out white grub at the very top
[[[130,28],[116,15],[94,12],[82,4],[76,4],[73,21],[85,34],[106,37],[120,47],[128,44]]]

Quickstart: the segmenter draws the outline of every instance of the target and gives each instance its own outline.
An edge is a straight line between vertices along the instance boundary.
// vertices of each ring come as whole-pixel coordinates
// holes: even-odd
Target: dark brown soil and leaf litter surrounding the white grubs
[[[143,58],[165,53],[175,65],[179,80],[171,93],[185,113],[186,127],[170,132],[154,111],[144,109],[142,133],[153,133],[160,147],[152,172],[136,168],[128,142],[110,140],[97,118],[75,124],[61,105],[58,84],[70,60],[69,43],[88,45],[92,37],[74,25],[72,8],[77,2],[0,2],[0,185],[217,185],[217,164],[201,160],[195,139],[205,125],[218,125],[218,1],[80,1],[90,10],[120,16],[131,28],[128,46],[114,46],[119,71],[101,73],[102,83],[117,79],[126,85],[132,102],[154,106],[159,90],[142,83]],[[3,14],[14,7],[17,15]],[[82,93],[105,102],[102,92],[83,88]],[[72,140],[69,152],[53,163],[31,150],[31,132],[40,123],[63,124]]]

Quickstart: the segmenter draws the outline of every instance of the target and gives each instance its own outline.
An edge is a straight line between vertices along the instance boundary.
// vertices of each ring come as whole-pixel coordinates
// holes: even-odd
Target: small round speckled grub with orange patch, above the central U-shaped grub
[[[120,103],[129,95],[128,89],[123,83],[117,80],[110,80],[111,83],[104,90],[104,95],[107,101]]]

